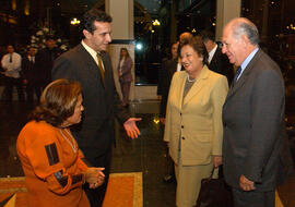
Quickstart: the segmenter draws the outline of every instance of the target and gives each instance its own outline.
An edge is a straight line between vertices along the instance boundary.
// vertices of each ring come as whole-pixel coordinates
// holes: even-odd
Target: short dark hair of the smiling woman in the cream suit
[[[180,51],[185,46],[190,46],[192,49],[200,56],[203,57],[203,64],[208,63],[208,51],[205,49],[205,46],[202,41],[202,38],[199,36],[186,39],[182,45],[180,46]]]

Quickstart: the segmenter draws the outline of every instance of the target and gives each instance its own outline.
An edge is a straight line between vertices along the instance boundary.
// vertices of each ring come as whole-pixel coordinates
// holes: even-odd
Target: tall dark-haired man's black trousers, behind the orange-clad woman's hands
[[[99,157],[86,158],[87,161],[92,165],[92,167],[105,168],[105,170],[103,171],[105,174],[105,182],[103,185],[94,190],[90,188],[87,183],[83,186],[92,207],[103,206],[109,178],[110,156],[111,150],[109,149],[107,153]]]

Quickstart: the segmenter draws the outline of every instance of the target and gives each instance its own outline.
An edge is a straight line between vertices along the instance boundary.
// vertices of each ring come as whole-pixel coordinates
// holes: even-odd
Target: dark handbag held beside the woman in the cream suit
[[[222,175],[222,167],[219,168],[219,179],[213,179],[214,168],[208,179],[201,181],[201,190],[197,200],[197,207],[233,207],[231,187]]]

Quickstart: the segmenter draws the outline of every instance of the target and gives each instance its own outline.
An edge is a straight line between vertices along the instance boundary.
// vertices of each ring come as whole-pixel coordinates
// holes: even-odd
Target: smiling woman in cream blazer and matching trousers
[[[168,96],[164,141],[175,162],[176,206],[196,205],[201,180],[222,163],[222,107],[228,84],[205,65],[208,52],[192,38],[180,49],[186,71],[176,72]]]

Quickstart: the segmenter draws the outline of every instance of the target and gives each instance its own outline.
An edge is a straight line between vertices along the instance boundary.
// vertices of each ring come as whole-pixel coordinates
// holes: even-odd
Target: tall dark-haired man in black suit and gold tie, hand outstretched
[[[115,88],[109,54],[105,51],[110,38],[111,17],[92,9],[83,16],[84,38],[76,47],[61,54],[52,70],[52,78],[69,78],[83,88],[84,119],[73,131],[79,147],[94,167],[105,168],[105,183],[96,190],[85,187],[92,207],[103,204],[108,182],[115,115],[128,136],[140,134],[135,121],[122,106]]]

